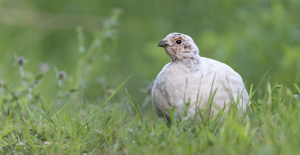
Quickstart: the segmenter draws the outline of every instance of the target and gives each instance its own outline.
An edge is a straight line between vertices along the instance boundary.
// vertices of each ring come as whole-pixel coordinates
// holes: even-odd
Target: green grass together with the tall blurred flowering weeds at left
[[[19,70],[19,81],[0,84],[0,154],[300,153],[300,81],[285,88],[264,79],[263,95],[257,95],[262,97],[251,98],[247,122],[234,106],[229,106],[232,113],[223,114],[222,121],[193,121],[187,115],[177,121],[172,109],[170,128],[156,117],[151,105],[140,106],[130,98],[126,89],[130,78],[115,81],[119,87],[114,92],[103,79],[97,87],[106,93],[89,90],[85,81],[95,79],[91,68],[97,65],[90,58],[99,54],[97,43],[107,39],[104,34],[114,28],[119,13],[113,12],[90,46],[85,47],[82,29],[77,29],[81,53],[74,62],[74,75],[59,77],[58,67],[54,68],[56,77],[43,71],[30,73],[26,63],[16,63],[16,55],[7,62]],[[48,89],[45,83],[57,87]],[[253,90],[251,87],[250,96],[258,93]],[[99,98],[89,101],[88,93],[99,93]],[[149,96],[147,104],[151,104]],[[204,113],[202,118],[208,116]]]

